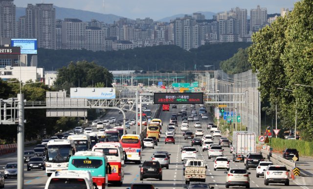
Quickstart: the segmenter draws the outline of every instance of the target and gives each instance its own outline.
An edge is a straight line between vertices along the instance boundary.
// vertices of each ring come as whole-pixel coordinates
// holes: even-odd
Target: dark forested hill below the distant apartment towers
[[[221,61],[229,59],[239,48],[246,48],[250,44],[247,42],[207,44],[190,51],[175,45],[106,52],[39,49],[38,67],[56,70],[70,62],[86,60],[109,70],[194,70],[195,64],[196,68],[201,70],[205,69],[203,65],[214,65],[215,69],[218,69]]]

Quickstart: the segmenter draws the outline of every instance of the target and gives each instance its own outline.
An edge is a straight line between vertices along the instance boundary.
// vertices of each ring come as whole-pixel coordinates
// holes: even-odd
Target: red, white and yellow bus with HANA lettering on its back
[[[141,163],[141,139],[136,134],[126,134],[121,137],[120,144],[127,155],[125,162]]]

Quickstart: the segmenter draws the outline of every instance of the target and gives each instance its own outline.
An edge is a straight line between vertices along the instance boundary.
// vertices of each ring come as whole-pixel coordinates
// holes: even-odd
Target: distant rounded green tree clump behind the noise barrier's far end
[[[248,49],[239,48],[238,52],[233,57],[220,63],[221,69],[227,74],[236,74],[248,71],[251,69],[251,64],[248,62]]]

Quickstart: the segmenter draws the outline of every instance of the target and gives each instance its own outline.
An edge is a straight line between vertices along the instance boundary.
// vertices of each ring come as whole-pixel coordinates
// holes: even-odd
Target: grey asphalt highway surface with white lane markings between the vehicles
[[[196,105],[198,106],[198,105]],[[150,105],[148,108],[154,112],[156,111],[157,105]],[[165,139],[165,130],[167,125],[169,124],[170,117],[173,113],[177,113],[181,109],[181,105],[178,105],[177,109],[170,109],[169,112],[161,112],[160,119],[163,122],[160,142],[155,149],[143,149],[142,152],[142,160],[149,161],[153,153],[157,150],[168,151],[171,154],[171,164],[169,169],[163,168],[163,180],[159,181],[156,179],[144,179],[143,182],[153,183],[158,189],[181,189],[185,186],[185,180],[182,172],[182,162],[180,158],[180,147],[184,145],[190,145],[191,140],[184,140],[182,133],[180,131],[180,127],[177,128],[176,134],[176,143],[174,144],[166,144],[164,143]],[[190,110],[190,106],[188,107],[188,111]],[[127,112],[126,117],[132,119],[134,113]],[[117,111],[109,111],[105,118],[115,117],[118,119],[122,119],[122,114],[118,114]],[[181,119],[179,117],[179,126],[181,123]],[[210,134],[210,131],[206,129],[207,123],[212,123],[212,120],[209,118],[208,120],[201,120],[202,129],[205,131],[204,134]],[[189,130],[195,131],[196,129],[193,127],[193,123],[189,125]],[[128,129],[128,133],[132,133],[135,131],[135,126],[132,126],[131,129]],[[216,137],[214,141],[218,143],[219,137]],[[202,152],[201,147],[196,147],[198,149],[198,159],[203,159],[206,161],[208,169],[206,173],[206,182],[210,183],[211,186],[215,187],[215,189],[224,189],[225,188],[225,174],[224,170],[213,170],[214,158],[211,160],[208,159],[207,151]],[[25,149],[26,150],[26,149]],[[224,148],[224,156],[228,157],[228,159],[232,159],[232,156],[229,152],[229,148]],[[0,166],[3,167],[8,162],[16,162],[16,153],[6,154],[1,156],[0,158]],[[230,162],[231,168],[244,168],[243,163],[234,163]],[[109,185],[110,189],[125,189],[130,187],[132,183],[141,182],[139,180],[139,170],[138,165],[129,163],[125,167],[125,178],[124,183],[121,187],[116,187],[113,185]],[[24,167],[25,175],[24,175],[24,189],[43,189],[45,187],[45,182],[47,180],[47,176],[45,171],[42,170],[33,170],[26,171]],[[255,169],[249,169],[250,174],[250,187],[251,188],[267,188],[267,189],[311,189],[312,185],[306,184],[303,178],[298,178],[296,180],[291,180],[290,186],[285,187],[283,184],[270,184],[269,186],[264,185],[264,179],[261,176],[260,178],[256,177]],[[5,180],[5,188],[16,189],[16,179],[6,179]],[[242,187],[231,187],[231,188],[242,188]]]

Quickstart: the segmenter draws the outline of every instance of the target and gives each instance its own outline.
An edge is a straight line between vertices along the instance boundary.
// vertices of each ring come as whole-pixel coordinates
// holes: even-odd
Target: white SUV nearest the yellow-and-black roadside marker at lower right
[[[285,186],[289,186],[289,171],[286,166],[269,165],[268,168],[263,169],[264,184],[268,186],[269,183],[284,183]]]

